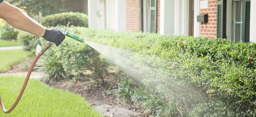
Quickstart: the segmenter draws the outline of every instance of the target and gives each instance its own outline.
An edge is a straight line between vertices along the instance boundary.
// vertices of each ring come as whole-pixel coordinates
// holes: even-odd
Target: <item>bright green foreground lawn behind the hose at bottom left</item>
[[[0,77],[0,94],[6,109],[16,100],[25,77]],[[80,95],[29,79],[26,90],[10,113],[1,117],[100,117]]]

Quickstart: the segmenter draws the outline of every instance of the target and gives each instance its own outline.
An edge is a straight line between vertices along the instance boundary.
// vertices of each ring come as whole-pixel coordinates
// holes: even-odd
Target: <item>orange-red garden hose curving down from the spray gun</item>
[[[44,45],[44,47],[43,47],[43,49],[41,50],[41,52],[39,52],[39,54],[38,54],[38,55],[36,56],[36,58],[34,59],[33,63],[31,64],[31,66],[30,66],[30,68],[29,68],[29,70],[28,70],[27,77],[26,77],[26,79],[25,79],[25,81],[24,81],[24,83],[23,83],[23,86],[22,86],[21,90],[20,90],[19,96],[17,97],[16,101],[13,103],[12,107],[11,107],[9,110],[6,110],[6,109],[4,108],[3,101],[2,101],[1,95],[0,95],[0,107],[1,107],[1,109],[2,109],[2,111],[3,111],[4,113],[8,114],[8,113],[12,112],[12,110],[17,106],[17,104],[19,103],[20,98],[21,98],[22,94],[24,93],[24,90],[25,90],[25,88],[26,88],[26,86],[27,86],[27,84],[28,84],[28,79],[29,79],[30,74],[31,74],[31,72],[32,72],[32,70],[33,70],[33,68],[34,68],[34,66],[35,66],[35,64],[36,64],[36,61],[37,61],[37,60],[40,58],[40,56],[41,56],[47,49],[49,49],[50,47],[51,47],[51,43],[47,42],[47,43]]]

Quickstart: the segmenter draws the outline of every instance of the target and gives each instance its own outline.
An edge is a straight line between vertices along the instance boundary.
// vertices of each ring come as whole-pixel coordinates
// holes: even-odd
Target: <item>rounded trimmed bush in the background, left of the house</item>
[[[88,27],[88,16],[78,12],[58,13],[44,17],[41,24],[44,26],[73,25]]]

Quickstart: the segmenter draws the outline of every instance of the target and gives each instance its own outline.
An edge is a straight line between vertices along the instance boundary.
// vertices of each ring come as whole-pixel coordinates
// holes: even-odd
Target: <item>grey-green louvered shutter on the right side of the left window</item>
[[[150,32],[156,33],[156,4],[157,0],[149,0],[149,28]]]

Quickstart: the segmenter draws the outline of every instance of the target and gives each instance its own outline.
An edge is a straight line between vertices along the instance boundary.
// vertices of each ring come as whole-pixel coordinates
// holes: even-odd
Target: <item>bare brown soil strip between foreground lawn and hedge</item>
[[[80,94],[85,97],[91,106],[106,117],[145,117],[143,109],[140,105],[128,104],[119,100],[114,93],[114,87],[103,87],[100,85],[92,85],[94,81],[61,81],[50,83],[60,89],[67,89],[70,92]],[[108,89],[109,88],[109,89]]]

